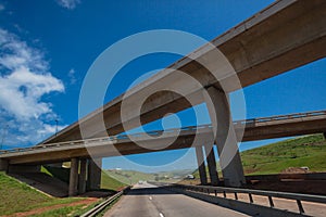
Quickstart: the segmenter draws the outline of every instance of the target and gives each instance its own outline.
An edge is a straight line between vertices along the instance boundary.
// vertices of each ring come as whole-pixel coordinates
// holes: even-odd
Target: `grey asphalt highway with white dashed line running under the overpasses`
[[[200,200],[177,194],[147,182],[136,184],[105,217],[248,216]]]

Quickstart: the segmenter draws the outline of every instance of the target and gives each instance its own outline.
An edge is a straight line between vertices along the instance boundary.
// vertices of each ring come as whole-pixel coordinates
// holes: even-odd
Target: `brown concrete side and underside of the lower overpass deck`
[[[235,124],[237,131],[237,124]],[[10,164],[49,164],[57,162],[70,161],[73,157],[88,158],[90,154],[98,157],[141,154],[158,151],[168,151],[187,149],[191,146],[202,146],[203,144],[212,144],[214,142],[211,127],[198,129],[197,128],[183,131],[177,139],[168,146],[165,146],[166,141],[171,138],[156,139],[152,137],[151,140],[138,139],[142,146],[139,146],[130,139],[122,139],[118,141],[98,141],[96,145],[87,144],[70,144],[70,145],[53,145],[47,148],[38,148],[29,152],[17,152],[2,155],[2,159],[7,159]],[[283,138],[292,136],[302,136],[311,133],[326,132],[326,114],[319,116],[309,116],[293,118],[290,120],[274,120],[271,123],[251,123],[247,124],[244,128],[243,138],[239,141],[254,141],[272,138]],[[175,135],[172,135],[174,138]],[[218,135],[217,135],[218,137]],[[238,138],[239,139],[239,138]],[[163,146],[164,145],[164,146]],[[146,149],[148,148],[148,149]]]

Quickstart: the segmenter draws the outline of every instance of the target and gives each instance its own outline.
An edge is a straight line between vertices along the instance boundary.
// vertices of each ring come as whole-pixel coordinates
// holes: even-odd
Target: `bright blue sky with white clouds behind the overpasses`
[[[262,10],[272,0],[208,1],[0,1],[0,141],[4,148],[35,144],[78,118],[83,79],[109,46],[133,34],[177,29],[211,40]],[[139,76],[164,68],[180,56],[153,54],[130,62],[114,78],[105,102],[124,92]],[[321,60],[243,90],[247,117],[262,117],[326,108],[326,61]],[[204,105],[202,123],[209,123]],[[193,111],[179,114],[193,124]],[[165,120],[173,126],[173,117]],[[158,123],[148,126],[148,129]],[[2,142],[3,141],[3,142]],[[275,141],[275,140],[273,140]],[[250,149],[271,141],[246,142]],[[129,156],[136,163],[161,165],[186,151]],[[196,166],[193,152],[178,166],[138,167],[121,157],[104,167],[164,170]]]

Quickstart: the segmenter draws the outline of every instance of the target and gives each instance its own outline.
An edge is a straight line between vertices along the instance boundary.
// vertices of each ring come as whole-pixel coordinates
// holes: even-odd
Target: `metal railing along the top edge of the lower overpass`
[[[267,123],[267,122],[275,122],[275,120],[286,120],[286,119],[294,119],[294,118],[302,118],[302,117],[315,117],[315,116],[323,116],[326,115],[326,111],[316,111],[316,112],[309,112],[309,113],[296,113],[290,115],[278,115],[272,117],[262,117],[262,118],[252,118],[252,119],[244,119],[244,120],[237,120],[234,122],[234,125],[247,125],[247,124],[254,124],[254,123]],[[75,140],[75,141],[66,141],[66,142],[57,142],[50,144],[39,144],[29,148],[17,148],[12,150],[0,150],[1,154],[8,153],[17,153],[17,152],[27,152],[27,151],[35,151],[46,148],[61,148],[66,145],[89,145],[91,143],[99,143],[99,142],[115,142],[129,139],[129,137],[134,138],[142,138],[145,136],[153,136],[159,137],[163,132],[165,133],[176,133],[183,131],[195,131],[199,129],[211,129],[212,125],[199,125],[199,126],[189,126],[189,127],[181,127],[181,128],[171,128],[165,130],[154,130],[149,132],[140,132],[140,133],[130,133],[130,135],[117,135],[111,137],[102,137],[96,139],[87,139],[87,140]]]

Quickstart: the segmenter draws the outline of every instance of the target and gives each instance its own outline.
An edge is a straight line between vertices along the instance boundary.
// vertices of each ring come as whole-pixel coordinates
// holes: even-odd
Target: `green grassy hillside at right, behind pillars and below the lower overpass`
[[[279,174],[302,166],[310,171],[326,171],[326,140],[323,135],[300,137],[243,151],[241,158],[246,175]],[[222,177],[218,164],[217,171]],[[198,170],[193,175],[199,178]]]

